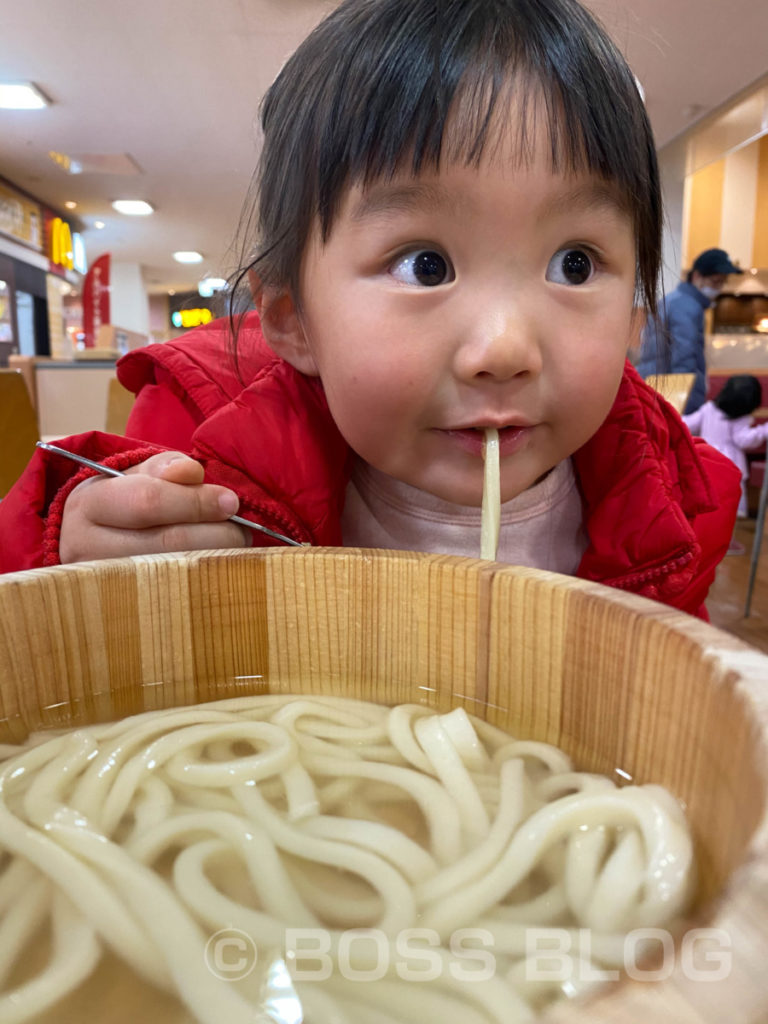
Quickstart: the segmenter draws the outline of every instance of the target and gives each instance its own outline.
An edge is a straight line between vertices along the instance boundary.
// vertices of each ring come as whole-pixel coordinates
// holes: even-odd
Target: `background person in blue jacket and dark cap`
[[[707,249],[693,261],[685,281],[665,297],[658,316],[648,323],[637,360],[641,377],[695,374],[684,409],[694,413],[707,400],[705,309],[723,290],[730,273],[743,273],[723,249]]]

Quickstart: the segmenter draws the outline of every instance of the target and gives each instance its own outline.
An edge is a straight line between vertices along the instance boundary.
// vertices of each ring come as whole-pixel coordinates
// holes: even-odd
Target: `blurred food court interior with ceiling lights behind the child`
[[[23,427],[26,396],[3,402],[14,439],[4,450],[4,492],[36,439],[121,430],[131,403],[115,380],[122,354],[221,312],[258,154],[260,94],[332,5],[231,0],[214,12],[168,0],[142,3],[130,18],[73,12],[55,30],[44,18],[41,28],[39,6],[19,7],[0,39],[2,76],[43,97],[37,109],[33,96],[31,109],[0,110],[0,367],[20,371],[32,406]],[[682,5],[591,6],[628,55],[656,137],[665,290],[711,247],[745,271],[707,313],[710,396],[728,376],[754,373],[766,381],[763,422],[768,77],[758,40],[768,17],[762,5],[744,5],[729,52],[733,22],[725,28],[717,8],[696,11],[691,44]],[[151,82],[112,43],[136,36],[134,19]],[[717,625],[768,649],[768,556],[759,557],[755,530],[764,447],[749,460],[750,518],[736,527],[749,553],[721,565],[710,608]]]

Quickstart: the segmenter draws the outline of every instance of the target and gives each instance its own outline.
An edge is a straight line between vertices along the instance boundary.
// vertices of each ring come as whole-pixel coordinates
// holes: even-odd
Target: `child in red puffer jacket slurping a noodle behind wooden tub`
[[[479,551],[706,614],[738,500],[626,362],[660,199],[635,79],[575,0],[345,0],[262,108],[256,311],[138,349],[124,438],[39,452],[0,568],[271,543]],[[253,246],[253,240],[251,242]]]

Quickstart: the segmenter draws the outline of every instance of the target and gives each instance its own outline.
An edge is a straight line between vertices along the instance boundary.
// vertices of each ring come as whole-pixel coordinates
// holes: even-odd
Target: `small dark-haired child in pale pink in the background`
[[[745,452],[768,440],[768,423],[753,426],[752,414],[763,399],[763,390],[757,377],[737,374],[729,377],[720,394],[706,402],[695,413],[684,416],[683,422],[692,434],[697,434],[735,463],[741,474],[741,498],[737,515],[745,519],[746,480],[750,475]],[[729,555],[742,555],[744,547],[731,541]]]

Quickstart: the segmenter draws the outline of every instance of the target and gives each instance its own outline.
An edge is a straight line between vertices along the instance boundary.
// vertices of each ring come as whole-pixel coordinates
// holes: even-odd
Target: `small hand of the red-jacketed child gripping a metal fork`
[[[227,521],[238,504],[232,490],[203,483],[199,462],[162,452],[125,476],[92,476],[75,487],[63,507],[59,558],[243,548],[245,529]]]

